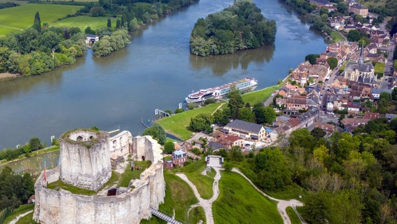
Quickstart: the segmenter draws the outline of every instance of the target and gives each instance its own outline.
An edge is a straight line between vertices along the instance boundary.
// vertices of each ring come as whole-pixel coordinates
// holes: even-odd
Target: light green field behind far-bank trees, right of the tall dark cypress
[[[86,30],[87,26],[90,26],[92,30],[98,30],[101,28],[107,27],[107,19],[109,17],[106,16],[73,16],[66,19],[62,19],[60,21],[55,21],[50,24],[50,26],[56,27],[79,27],[81,31]],[[117,18],[110,18],[111,26],[116,27]]]

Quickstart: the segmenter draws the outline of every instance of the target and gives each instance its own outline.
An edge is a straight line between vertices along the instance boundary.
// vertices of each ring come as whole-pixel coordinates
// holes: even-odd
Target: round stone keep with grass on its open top
[[[98,190],[111,176],[109,134],[73,130],[60,137],[61,180],[76,187]]]

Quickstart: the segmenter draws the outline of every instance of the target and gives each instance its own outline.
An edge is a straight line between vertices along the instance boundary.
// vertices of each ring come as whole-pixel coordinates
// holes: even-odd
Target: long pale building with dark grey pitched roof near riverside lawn
[[[242,138],[261,141],[265,137],[265,128],[262,125],[238,119],[225,125],[223,129],[228,130],[230,134]]]

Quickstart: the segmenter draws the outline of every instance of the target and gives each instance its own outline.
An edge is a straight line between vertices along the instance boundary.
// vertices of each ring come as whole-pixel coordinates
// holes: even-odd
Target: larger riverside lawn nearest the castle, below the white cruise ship
[[[189,139],[193,131],[189,128],[190,119],[203,113],[212,114],[215,109],[221,103],[213,103],[200,108],[184,111],[173,115],[171,117],[165,117],[157,121],[166,131],[176,134],[181,139]]]

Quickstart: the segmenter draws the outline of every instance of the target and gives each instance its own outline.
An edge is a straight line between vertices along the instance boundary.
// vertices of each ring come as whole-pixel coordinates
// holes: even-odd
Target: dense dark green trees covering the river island
[[[200,18],[190,36],[190,52],[200,56],[233,53],[273,44],[276,23],[250,1],[235,1],[221,12]]]

